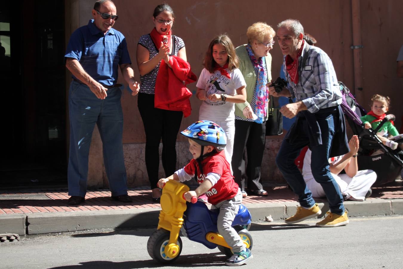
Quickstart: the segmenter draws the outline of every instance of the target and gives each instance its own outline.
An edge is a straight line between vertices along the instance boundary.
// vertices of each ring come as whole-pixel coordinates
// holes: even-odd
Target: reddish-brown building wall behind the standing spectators
[[[354,1],[354,0],[353,0]],[[71,25],[66,25],[66,35],[69,31],[88,23],[91,18],[93,0],[66,0],[66,19]],[[121,31],[127,38],[129,53],[139,79],[136,65],[136,47],[141,35],[150,33],[154,27],[152,13],[156,5],[162,1],[132,1],[115,0],[117,14],[120,16],[114,28]],[[202,70],[202,60],[208,44],[219,33],[228,33],[235,46],[247,42],[246,30],[256,21],[264,21],[276,29],[277,23],[284,19],[299,19],[306,32],[313,35],[318,46],[328,53],[333,61],[339,81],[354,91],[353,52],[352,42],[352,15],[351,2],[348,0],[311,0],[305,1],[254,1],[245,3],[240,0],[205,0],[183,1],[171,0],[168,2],[174,9],[176,18],[172,31],[183,38],[187,58],[193,72],[199,75]],[[361,0],[361,38],[362,45],[362,77],[363,91],[358,93],[362,105],[369,103],[375,93],[392,98],[391,112],[397,115],[396,126],[401,126],[400,117],[402,107],[399,105],[399,94],[403,80],[396,77],[396,57],[401,40],[401,10],[403,2],[396,0],[376,1]],[[287,10],[287,11],[285,11]],[[359,44],[354,44],[359,45]],[[275,78],[280,72],[282,55],[278,44],[275,44],[272,54],[272,76]],[[125,84],[122,77],[120,82]],[[190,85],[195,92],[195,83]],[[133,97],[124,90],[122,97],[125,117],[123,141],[125,143],[125,160],[128,172],[129,186],[147,185],[147,173],[144,164],[145,134],[143,123],[137,109],[137,96]],[[197,120],[200,101],[192,96],[192,115],[183,119],[181,129]],[[368,106],[366,106],[368,107]],[[281,182],[283,179],[275,168],[274,157],[282,136],[269,137],[266,140],[266,154],[264,156],[263,180]],[[184,165],[188,159],[187,144],[178,139],[178,167]],[[89,186],[100,186],[106,182],[102,175],[102,143],[99,134],[94,133],[91,145]],[[100,169],[101,168],[101,169]],[[162,166],[160,174],[163,176]]]

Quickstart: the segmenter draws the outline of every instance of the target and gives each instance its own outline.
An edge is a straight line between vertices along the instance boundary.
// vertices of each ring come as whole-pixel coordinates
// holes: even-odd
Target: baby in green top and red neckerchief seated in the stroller
[[[390,105],[391,99],[388,96],[385,97],[379,94],[372,96],[371,111],[360,118],[362,123],[364,123],[365,129],[376,129],[382,119],[386,116],[385,113],[388,112]],[[396,127],[393,126],[393,122],[391,121],[386,121],[382,128],[376,133],[378,138],[382,141],[382,144],[393,150],[395,150],[399,144],[395,141],[389,140],[388,136],[397,136],[398,134],[399,132]],[[400,148],[402,149],[402,145],[400,145]]]

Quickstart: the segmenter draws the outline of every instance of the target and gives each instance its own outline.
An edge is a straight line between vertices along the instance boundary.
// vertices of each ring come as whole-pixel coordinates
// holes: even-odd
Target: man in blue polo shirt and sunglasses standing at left
[[[112,29],[116,6],[110,0],[94,4],[93,20],[71,35],[64,61],[73,74],[69,90],[70,154],[67,177],[68,204],[84,202],[87,192],[88,154],[92,132],[98,125],[103,145],[104,165],[112,198],[131,202],[127,195],[123,159],[123,113],[118,67],[132,90],[139,91],[134,79],[126,39]]]

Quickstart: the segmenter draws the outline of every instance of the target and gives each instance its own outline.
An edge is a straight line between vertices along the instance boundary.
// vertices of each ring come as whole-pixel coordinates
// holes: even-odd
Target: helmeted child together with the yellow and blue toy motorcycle
[[[190,240],[208,248],[218,246],[229,257],[226,265],[242,265],[252,258],[252,237],[245,229],[251,216],[241,204],[241,190],[222,151],[226,145],[225,133],[212,121],[197,121],[181,134],[189,140],[193,159],[170,177],[158,181],[158,186],[164,187],[162,210],[158,229],[147,242],[148,253],[161,263],[177,259],[182,251],[181,230]],[[195,175],[199,183],[196,190],[189,191],[189,187],[179,183]],[[208,197],[213,211],[203,202],[196,202],[202,194]]]

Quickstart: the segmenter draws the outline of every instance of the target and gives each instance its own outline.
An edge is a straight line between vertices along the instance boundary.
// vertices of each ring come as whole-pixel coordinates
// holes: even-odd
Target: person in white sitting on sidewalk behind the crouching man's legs
[[[359,141],[353,136],[349,141],[350,152],[331,158],[330,173],[336,181],[343,200],[364,201],[372,194],[371,186],[376,181],[376,173],[372,170],[358,171],[357,152]],[[345,174],[340,174],[341,171]],[[312,192],[312,197],[326,197],[322,186],[315,181],[311,171],[311,151],[308,149],[303,159],[302,176],[307,188]]]

